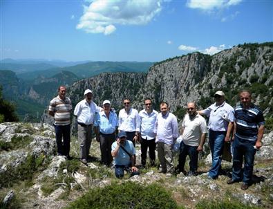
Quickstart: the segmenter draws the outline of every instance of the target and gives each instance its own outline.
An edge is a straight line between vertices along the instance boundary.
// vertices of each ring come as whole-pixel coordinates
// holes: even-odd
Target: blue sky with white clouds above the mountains
[[[0,60],[159,62],[273,41],[273,0],[0,0]]]

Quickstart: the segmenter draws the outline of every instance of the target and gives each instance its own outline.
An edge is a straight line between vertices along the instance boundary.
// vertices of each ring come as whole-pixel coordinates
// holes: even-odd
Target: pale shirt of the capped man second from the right
[[[216,103],[211,104],[202,112],[209,117],[208,128],[212,131],[227,131],[229,122],[234,122],[234,108],[227,102],[219,106],[216,106]]]

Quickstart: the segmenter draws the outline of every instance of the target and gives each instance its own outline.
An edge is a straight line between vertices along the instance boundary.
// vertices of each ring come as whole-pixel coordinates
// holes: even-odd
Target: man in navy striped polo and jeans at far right
[[[228,184],[243,180],[242,190],[247,190],[252,183],[252,172],[256,150],[262,144],[265,130],[265,119],[259,107],[251,102],[251,93],[248,90],[240,92],[241,104],[235,107],[235,138],[233,143],[234,156],[232,165],[232,179]],[[242,170],[243,158],[245,161]]]

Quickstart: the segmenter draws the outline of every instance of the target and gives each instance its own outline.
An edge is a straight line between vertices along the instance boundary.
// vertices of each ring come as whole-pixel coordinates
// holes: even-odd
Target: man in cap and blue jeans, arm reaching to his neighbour
[[[225,93],[216,91],[214,98],[214,104],[198,111],[200,115],[209,117],[209,147],[212,157],[209,179],[218,178],[221,171],[224,142],[229,140],[229,130],[232,129],[232,122],[234,122],[234,108],[225,102]]]

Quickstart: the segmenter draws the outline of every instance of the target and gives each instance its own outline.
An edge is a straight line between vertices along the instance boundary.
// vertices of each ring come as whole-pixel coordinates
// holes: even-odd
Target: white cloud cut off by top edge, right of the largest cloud
[[[192,9],[214,10],[235,6],[238,3],[241,3],[241,1],[243,0],[188,0],[186,5]]]

